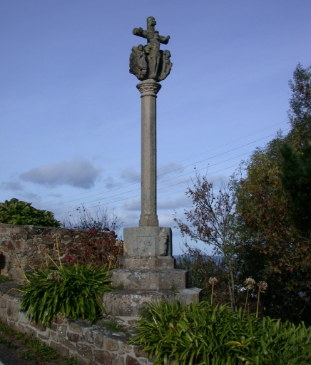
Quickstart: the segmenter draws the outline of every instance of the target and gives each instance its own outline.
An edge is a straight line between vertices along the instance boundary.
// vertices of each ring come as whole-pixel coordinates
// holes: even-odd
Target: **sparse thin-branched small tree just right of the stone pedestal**
[[[234,258],[235,242],[235,195],[233,183],[225,184],[220,180],[218,194],[214,193],[213,183],[208,183],[207,177],[196,175],[192,181],[193,187],[188,187],[186,194],[193,201],[193,209],[185,210],[187,223],[174,218],[182,237],[189,236],[195,242],[202,241],[213,246],[213,254],[221,256],[218,263],[210,259],[208,255],[197,249],[192,249],[185,242],[188,254],[185,257],[195,257],[193,264],[200,266],[206,273],[212,265],[217,272],[225,277],[228,286],[232,309],[236,309],[235,276],[237,269]],[[217,261],[217,260],[216,260]],[[205,269],[203,267],[205,266]],[[197,270],[199,267],[197,267]],[[205,277],[208,280],[208,277]],[[219,279],[219,278],[218,278]],[[204,282],[203,282],[204,284]],[[206,284],[206,282],[205,282]]]

